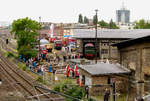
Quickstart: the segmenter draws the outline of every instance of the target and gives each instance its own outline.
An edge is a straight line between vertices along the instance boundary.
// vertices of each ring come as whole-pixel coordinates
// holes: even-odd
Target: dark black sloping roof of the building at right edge
[[[135,38],[135,39],[122,41],[120,43],[112,44],[112,46],[117,46],[118,48],[124,48],[124,47],[127,47],[127,46],[131,46],[131,45],[141,43],[141,42],[146,42],[146,41],[150,42],[150,35],[140,37],[140,38]]]

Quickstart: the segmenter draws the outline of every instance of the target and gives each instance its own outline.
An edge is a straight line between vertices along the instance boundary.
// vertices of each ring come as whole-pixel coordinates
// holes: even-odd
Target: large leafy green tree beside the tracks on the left
[[[38,30],[41,29],[40,23],[28,17],[13,21],[11,34],[15,34],[17,39],[17,50],[25,58],[37,55],[35,43],[37,43]]]

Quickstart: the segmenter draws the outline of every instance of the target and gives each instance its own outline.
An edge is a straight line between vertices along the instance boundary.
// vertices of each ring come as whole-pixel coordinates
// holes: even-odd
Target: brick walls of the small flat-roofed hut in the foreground
[[[91,76],[89,73],[86,71],[80,69],[80,75],[84,75],[85,78],[91,78],[92,80],[92,86],[90,86],[90,95],[104,95],[104,91],[106,88],[109,90],[112,90],[110,85],[108,84],[108,78],[110,78],[110,81],[112,82],[111,78],[115,78],[116,81],[116,92],[119,94],[127,93],[128,90],[128,77],[120,77],[120,76],[104,76],[104,75],[99,75],[99,76]],[[125,85],[126,84],[126,85]],[[101,85],[101,86],[100,86]]]

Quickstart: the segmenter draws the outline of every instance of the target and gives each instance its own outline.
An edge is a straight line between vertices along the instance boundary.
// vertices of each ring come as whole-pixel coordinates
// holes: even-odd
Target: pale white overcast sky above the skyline
[[[130,10],[131,21],[150,19],[150,0],[0,0],[0,21],[12,22],[14,19],[41,16],[48,22],[77,22],[78,15],[92,18],[98,9],[99,20],[116,20],[116,10],[122,2]]]

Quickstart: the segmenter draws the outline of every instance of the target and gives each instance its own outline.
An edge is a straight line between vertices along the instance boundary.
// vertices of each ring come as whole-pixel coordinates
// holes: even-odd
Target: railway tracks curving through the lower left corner
[[[23,92],[25,99],[32,98],[35,101],[64,101],[56,94],[48,94],[41,89],[34,87],[34,80],[19,70],[13,63],[0,54],[0,70],[3,75],[10,80],[13,85],[17,84],[16,89]],[[42,96],[37,96],[42,95]],[[30,96],[30,97],[29,97]],[[42,100],[41,100],[42,99]]]

